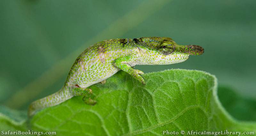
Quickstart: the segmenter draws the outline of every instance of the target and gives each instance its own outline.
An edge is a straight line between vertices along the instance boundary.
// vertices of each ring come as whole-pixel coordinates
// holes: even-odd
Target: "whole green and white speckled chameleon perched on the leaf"
[[[32,102],[28,115],[39,109],[51,107],[73,96],[84,96],[86,104],[94,105],[90,97],[92,84],[105,83],[117,71],[123,70],[145,84],[142,71],[135,65],[166,65],[180,63],[189,55],[200,55],[204,49],[197,45],[178,45],[168,37],[142,37],[134,39],[110,39],[98,42],[82,52],[71,67],[60,91]]]

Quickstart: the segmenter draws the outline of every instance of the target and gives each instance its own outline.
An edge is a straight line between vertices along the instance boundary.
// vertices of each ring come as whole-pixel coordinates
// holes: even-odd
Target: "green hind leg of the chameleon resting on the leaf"
[[[74,96],[81,96],[81,95],[84,96],[82,100],[86,104],[95,105],[97,103],[95,100],[91,99],[92,89],[81,88],[81,87],[76,87],[75,86],[75,87],[72,88],[72,94]]]

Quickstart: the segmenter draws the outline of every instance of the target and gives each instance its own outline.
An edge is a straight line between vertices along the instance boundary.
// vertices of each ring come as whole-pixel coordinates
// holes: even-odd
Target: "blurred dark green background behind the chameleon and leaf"
[[[179,64],[136,69],[216,75],[221,101],[251,102],[234,108],[226,101],[225,108],[240,108],[242,113],[233,116],[250,120],[243,112],[256,111],[255,9],[254,0],[1,0],[1,105],[25,110],[31,101],[58,91],[79,53],[98,41],[167,36],[177,44],[203,46],[205,53]],[[227,90],[235,90],[236,97],[229,99]]]

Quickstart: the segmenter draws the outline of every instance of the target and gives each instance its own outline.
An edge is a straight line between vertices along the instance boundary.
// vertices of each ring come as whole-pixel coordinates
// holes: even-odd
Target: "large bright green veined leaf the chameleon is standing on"
[[[173,69],[144,74],[146,85],[124,72],[95,84],[95,106],[74,97],[46,108],[31,120],[34,131],[57,135],[162,135],[163,131],[256,131],[256,123],[238,122],[221,106],[215,76]]]

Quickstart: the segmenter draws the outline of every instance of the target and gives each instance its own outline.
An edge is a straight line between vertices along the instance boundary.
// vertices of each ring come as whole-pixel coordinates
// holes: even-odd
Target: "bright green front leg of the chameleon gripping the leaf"
[[[142,84],[145,84],[144,79],[140,76],[140,74],[144,74],[144,73],[138,69],[133,69],[131,66],[129,66],[128,64],[131,61],[132,61],[131,56],[125,56],[125,57],[117,58],[113,64],[117,68],[127,72],[132,77],[139,80]]]

